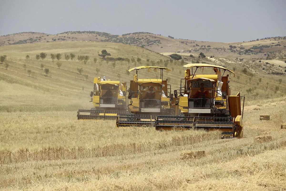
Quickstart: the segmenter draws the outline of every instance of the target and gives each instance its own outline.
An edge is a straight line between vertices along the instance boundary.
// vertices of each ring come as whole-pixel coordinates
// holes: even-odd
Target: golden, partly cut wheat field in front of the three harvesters
[[[5,190],[283,190],[284,99],[252,102],[245,108],[244,138],[223,140],[218,131],[116,129],[114,120],[77,120],[75,111],[3,112],[0,186]],[[265,113],[271,115],[270,121],[259,120]],[[272,140],[257,142],[257,136]],[[205,156],[181,160],[184,150],[204,150]]]

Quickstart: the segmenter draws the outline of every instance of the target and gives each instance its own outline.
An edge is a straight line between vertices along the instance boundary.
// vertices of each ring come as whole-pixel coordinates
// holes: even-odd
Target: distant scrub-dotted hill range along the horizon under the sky
[[[68,31],[56,35],[45,33],[17,33],[0,37],[0,45],[17,45],[24,43],[59,42],[59,41],[91,41],[113,42],[145,47],[155,52],[180,52],[217,55],[229,58],[267,58],[271,53],[286,49],[286,37],[268,37],[253,41],[220,43],[174,39],[147,32],[112,35],[97,31]],[[281,56],[280,56],[281,57]],[[286,55],[283,54],[282,58]]]

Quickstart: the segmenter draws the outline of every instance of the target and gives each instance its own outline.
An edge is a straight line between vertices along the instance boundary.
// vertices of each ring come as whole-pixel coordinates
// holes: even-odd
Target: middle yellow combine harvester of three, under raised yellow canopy
[[[160,79],[138,79],[138,70],[160,70]],[[128,114],[119,114],[116,127],[154,125],[158,115],[174,115],[171,100],[171,85],[168,79],[163,80],[163,71],[171,71],[165,67],[140,66],[129,70],[136,70],[128,90]]]

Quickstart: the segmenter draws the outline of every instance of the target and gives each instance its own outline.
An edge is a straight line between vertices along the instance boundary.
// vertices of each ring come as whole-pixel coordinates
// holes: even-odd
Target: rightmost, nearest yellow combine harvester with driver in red
[[[233,71],[209,64],[187,64],[185,78],[181,79],[179,90],[174,91],[173,104],[176,116],[158,116],[156,130],[205,129],[222,130],[222,138],[241,138],[243,136],[244,96],[231,95],[229,75]],[[198,75],[200,67],[217,68],[222,75]],[[195,71],[193,72],[193,70]],[[241,98],[243,107],[241,111]]]

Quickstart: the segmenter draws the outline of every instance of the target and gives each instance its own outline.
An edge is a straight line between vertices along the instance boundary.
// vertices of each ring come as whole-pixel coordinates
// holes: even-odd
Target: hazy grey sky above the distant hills
[[[249,41],[286,36],[286,0],[1,0],[0,23],[0,35],[150,32],[201,41]]]

